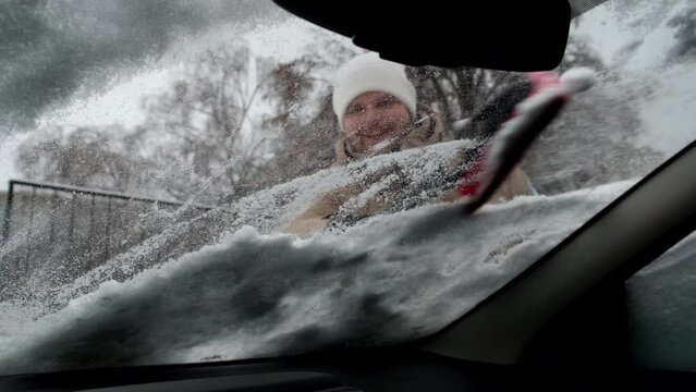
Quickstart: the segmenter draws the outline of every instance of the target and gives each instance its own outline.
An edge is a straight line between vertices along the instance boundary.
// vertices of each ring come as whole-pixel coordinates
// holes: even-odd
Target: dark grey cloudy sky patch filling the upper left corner
[[[283,17],[259,0],[0,0],[0,132],[32,126],[47,108],[101,91],[211,28]]]

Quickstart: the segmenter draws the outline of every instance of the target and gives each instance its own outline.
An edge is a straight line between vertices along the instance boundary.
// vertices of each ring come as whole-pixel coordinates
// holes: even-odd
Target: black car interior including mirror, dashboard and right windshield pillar
[[[553,69],[573,17],[602,0],[274,0],[291,13],[404,64],[509,71]],[[461,4],[460,4],[461,5]],[[384,19],[392,10],[398,16]],[[388,11],[389,10],[389,11]],[[427,14],[429,17],[423,17]],[[486,15],[486,17],[481,17]],[[412,34],[410,21],[427,26]],[[423,34],[480,45],[442,51]],[[402,32],[403,35],[393,34]],[[534,45],[525,45],[534,42]],[[414,48],[418,48],[414,50]],[[502,48],[491,50],[491,48]],[[640,180],[473,310],[413,342],[205,364],[134,366],[0,377],[2,391],[585,391],[673,390],[693,372],[633,363],[625,281],[696,229],[696,143]],[[664,189],[671,189],[664,192]],[[689,389],[691,389],[689,388]]]

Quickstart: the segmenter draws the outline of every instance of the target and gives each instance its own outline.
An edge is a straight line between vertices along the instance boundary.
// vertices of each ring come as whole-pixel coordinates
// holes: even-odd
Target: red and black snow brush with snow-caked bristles
[[[474,213],[505,181],[536,137],[578,93],[595,83],[595,72],[571,69],[560,77],[554,72],[532,72],[513,84],[472,118],[455,122],[462,138],[483,138],[472,167],[457,192],[466,198],[463,212]]]

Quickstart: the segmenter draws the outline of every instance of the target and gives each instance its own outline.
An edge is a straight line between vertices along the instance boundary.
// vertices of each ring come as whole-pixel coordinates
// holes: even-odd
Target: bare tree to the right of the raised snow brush
[[[587,66],[598,82],[578,95],[527,151],[524,169],[545,194],[555,194],[648,173],[661,159],[639,146],[642,123],[634,88],[608,69],[585,40],[571,36],[557,71]]]

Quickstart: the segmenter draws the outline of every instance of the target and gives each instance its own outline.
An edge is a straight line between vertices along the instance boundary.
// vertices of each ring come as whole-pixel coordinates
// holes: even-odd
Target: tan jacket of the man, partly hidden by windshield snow
[[[416,121],[414,125],[404,133],[403,137],[398,138],[394,143],[389,144],[377,154],[395,152],[452,139],[452,137],[444,131],[444,126],[438,114],[427,109],[420,109],[418,119],[419,121]],[[331,167],[341,167],[352,161],[376,155],[375,152],[362,155],[354,154],[351,151],[351,148],[342,133],[340,133],[334,149],[337,158]],[[459,163],[459,161],[452,162],[452,167],[455,168]],[[368,184],[374,184],[390,173],[393,173],[393,169],[387,168],[386,170],[375,173],[369,179],[366,179],[366,181],[349,184],[322,195],[295,220],[282,226],[280,232],[294,233],[305,237],[322,230],[341,206],[354,196],[357,196],[367,189],[369,187]],[[491,197],[491,203],[500,203],[518,195],[529,195],[532,193],[533,191],[529,186],[526,174],[524,174],[520,168],[515,168],[510,173],[505,182],[498,188],[493,197]],[[434,201],[454,201],[459,198],[460,196],[456,191],[452,189]],[[356,213],[362,217],[370,217],[384,211],[386,208],[387,204],[383,197],[374,198],[362,206]]]

